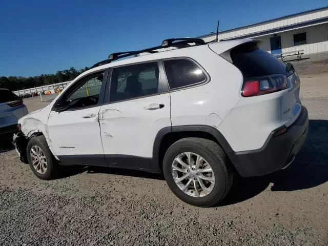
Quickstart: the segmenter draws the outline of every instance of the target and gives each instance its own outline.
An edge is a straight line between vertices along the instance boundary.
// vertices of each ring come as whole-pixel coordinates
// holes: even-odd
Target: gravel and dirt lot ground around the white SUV
[[[76,167],[39,180],[15,151],[3,150],[0,244],[327,245],[327,58],[294,63],[310,132],[293,165],[236,179],[219,207],[189,206],[160,176],[136,171]],[[30,111],[47,104],[25,103]]]

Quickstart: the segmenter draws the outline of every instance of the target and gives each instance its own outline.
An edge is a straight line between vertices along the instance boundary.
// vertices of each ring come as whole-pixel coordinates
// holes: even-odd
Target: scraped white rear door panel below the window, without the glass
[[[156,134],[171,127],[170,93],[104,105],[99,123],[109,166],[149,169]]]

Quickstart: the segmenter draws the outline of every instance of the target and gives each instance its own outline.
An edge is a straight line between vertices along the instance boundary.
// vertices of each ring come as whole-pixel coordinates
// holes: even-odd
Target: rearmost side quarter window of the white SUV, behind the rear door
[[[201,83],[206,80],[203,71],[189,59],[164,60],[170,89]]]

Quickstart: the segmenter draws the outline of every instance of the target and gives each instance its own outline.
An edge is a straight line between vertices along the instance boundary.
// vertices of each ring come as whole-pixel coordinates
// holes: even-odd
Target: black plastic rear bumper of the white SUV
[[[230,158],[242,177],[262,176],[288,166],[302,148],[309,130],[308,110],[302,107],[288,131],[278,137],[272,132],[259,150],[235,152]]]

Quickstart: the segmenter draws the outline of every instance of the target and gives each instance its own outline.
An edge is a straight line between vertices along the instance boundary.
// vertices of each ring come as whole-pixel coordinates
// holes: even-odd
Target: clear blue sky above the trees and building
[[[0,76],[33,76],[92,66],[109,53],[160,45],[320,8],[312,1],[3,0]]]

